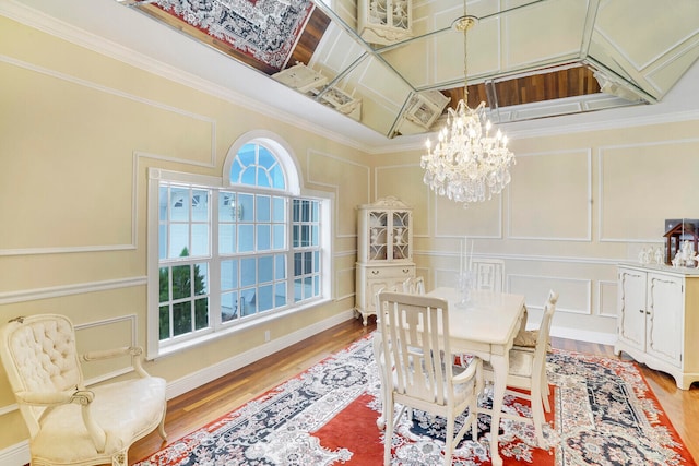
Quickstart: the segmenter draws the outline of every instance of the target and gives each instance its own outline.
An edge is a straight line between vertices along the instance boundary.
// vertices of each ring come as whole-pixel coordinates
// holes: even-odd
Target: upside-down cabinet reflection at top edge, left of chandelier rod
[[[390,45],[413,37],[413,0],[359,0],[359,35]]]

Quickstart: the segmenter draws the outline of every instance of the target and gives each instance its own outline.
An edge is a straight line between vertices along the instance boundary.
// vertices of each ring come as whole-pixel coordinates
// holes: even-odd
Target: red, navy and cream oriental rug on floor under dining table
[[[381,465],[384,432],[370,335],[257,399],[177,440],[137,466]],[[554,349],[548,355],[552,413],[535,446],[531,425],[502,420],[500,455],[511,465],[695,465],[636,365]],[[483,403],[489,403],[484,399]],[[505,408],[530,415],[528,402]],[[489,416],[479,415],[453,464],[490,465]],[[445,426],[415,411],[392,435],[392,465],[443,462]]]

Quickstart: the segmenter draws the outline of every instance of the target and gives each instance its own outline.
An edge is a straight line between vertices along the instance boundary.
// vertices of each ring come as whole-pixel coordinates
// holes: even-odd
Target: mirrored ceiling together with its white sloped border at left
[[[416,116],[463,96],[464,65],[470,106],[483,100],[494,122],[526,127],[662,103],[699,58],[697,0],[469,0],[477,24],[465,61],[452,28],[463,0],[320,1],[7,0],[5,10],[369,152],[436,131],[443,117]],[[377,39],[364,1],[410,7],[410,34]],[[303,72],[320,84],[299,85]]]

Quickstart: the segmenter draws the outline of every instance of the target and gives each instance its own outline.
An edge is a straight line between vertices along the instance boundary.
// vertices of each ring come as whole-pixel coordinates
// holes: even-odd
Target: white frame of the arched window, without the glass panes
[[[283,166],[285,176],[286,190],[277,189],[265,190],[246,184],[232,186],[228,180],[230,165],[235,159],[238,150],[248,143],[257,143],[266,146]],[[299,312],[309,307],[315,307],[331,300],[332,295],[332,268],[331,252],[332,243],[332,208],[334,207],[334,199],[332,193],[324,191],[305,190],[300,183],[300,171],[297,168],[296,159],[291,150],[281,142],[275,135],[269,132],[251,132],[241,136],[232,145],[228,151],[224,167],[223,177],[210,177],[202,175],[193,175],[178,171],[164,170],[159,168],[149,169],[149,193],[147,193],[147,335],[146,335],[146,358],[155,359],[179,350],[199,345],[201,343],[229,335],[235,332],[259,325],[262,322],[276,320],[289,313]],[[204,189],[211,191],[210,211],[211,211],[211,228],[210,228],[210,255],[204,260],[197,258],[197,262],[209,263],[209,315],[210,326],[208,328],[188,334],[177,342],[161,344],[159,340],[159,258],[158,258],[158,226],[159,226],[159,189],[162,183],[173,183],[183,187],[192,187],[196,189]],[[220,258],[214,251],[218,251],[218,228],[217,228],[217,193],[218,191],[236,191],[236,192],[254,192],[271,195],[281,195],[287,199],[287,226],[292,225],[292,204],[294,199],[312,199],[321,204],[320,208],[320,244],[321,244],[321,283],[320,296],[303,302],[293,302],[294,296],[287,291],[287,304],[282,309],[265,311],[256,315],[251,315],[230,324],[230,322],[221,321],[221,294],[218,291],[221,285],[221,262],[228,258]],[[286,238],[287,250],[287,280],[292,282],[293,287],[293,259],[294,248],[292,244],[291,228],[287,228]],[[289,289],[289,287],[287,287]]]

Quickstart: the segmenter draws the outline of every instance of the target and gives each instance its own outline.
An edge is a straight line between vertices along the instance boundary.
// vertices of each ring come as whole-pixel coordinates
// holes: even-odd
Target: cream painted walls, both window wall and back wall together
[[[147,169],[221,176],[241,134],[269,130],[305,189],[333,196],[334,300],[146,365],[170,383],[285,340],[354,306],[355,206],[414,206],[415,260],[449,285],[459,241],[506,261],[506,287],[537,320],[560,292],[554,333],[611,342],[616,266],[660,244],[665,218],[697,218],[698,121],[519,138],[503,195],[463,210],[423,184],[419,152],[368,155],[250,108],[0,17],[0,321],[60,312],[81,345],[145,345]],[[92,324],[96,324],[92,326]],[[116,338],[116,339],[115,339]],[[118,368],[99,368],[97,377]],[[26,439],[0,374],[0,451]]]

